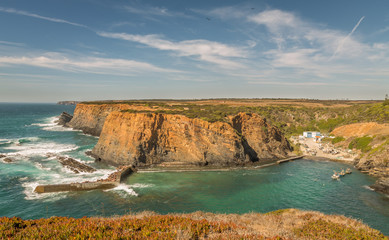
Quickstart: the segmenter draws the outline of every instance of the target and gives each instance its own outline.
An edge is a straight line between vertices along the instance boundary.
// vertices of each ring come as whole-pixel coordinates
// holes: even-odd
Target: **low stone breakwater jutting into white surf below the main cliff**
[[[111,189],[117,187],[121,181],[128,177],[131,173],[136,172],[132,166],[121,166],[116,171],[110,174],[105,179],[99,179],[94,182],[81,182],[69,184],[51,184],[39,185],[35,188],[36,193],[50,193],[50,192],[68,192],[68,191],[89,191],[96,189]]]

